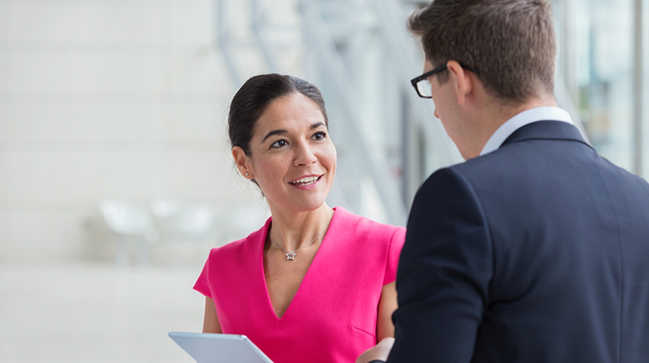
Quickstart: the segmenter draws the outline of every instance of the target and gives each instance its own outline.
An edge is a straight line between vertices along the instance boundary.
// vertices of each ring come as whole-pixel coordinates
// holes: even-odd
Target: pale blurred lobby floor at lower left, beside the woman
[[[0,362],[193,362],[167,333],[201,330],[200,272],[0,265]]]

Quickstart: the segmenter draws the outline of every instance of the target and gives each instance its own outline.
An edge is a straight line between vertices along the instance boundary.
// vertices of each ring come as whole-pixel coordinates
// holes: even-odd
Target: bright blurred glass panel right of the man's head
[[[633,0],[553,2],[559,67],[595,149],[633,168]]]

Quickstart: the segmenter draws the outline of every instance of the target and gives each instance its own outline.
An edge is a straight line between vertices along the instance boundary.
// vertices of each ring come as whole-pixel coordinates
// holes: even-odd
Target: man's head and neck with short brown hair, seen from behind
[[[548,1],[435,0],[408,26],[421,36],[425,70],[448,66],[428,80],[436,114],[465,159],[478,156],[509,117],[554,103]]]

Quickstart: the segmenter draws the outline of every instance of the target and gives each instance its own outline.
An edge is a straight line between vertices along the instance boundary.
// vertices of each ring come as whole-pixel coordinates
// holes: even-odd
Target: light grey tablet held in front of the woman
[[[197,363],[273,363],[245,335],[169,333]]]

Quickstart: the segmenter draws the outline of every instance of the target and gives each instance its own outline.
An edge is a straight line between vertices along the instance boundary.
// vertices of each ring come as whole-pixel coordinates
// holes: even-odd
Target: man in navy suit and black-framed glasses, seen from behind
[[[649,185],[556,107],[548,3],[435,0],[410,29],[467,162],[417,193],[394,346],[358,362],[649,362]]]

